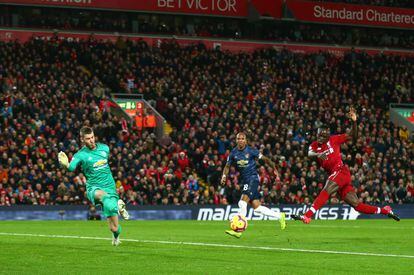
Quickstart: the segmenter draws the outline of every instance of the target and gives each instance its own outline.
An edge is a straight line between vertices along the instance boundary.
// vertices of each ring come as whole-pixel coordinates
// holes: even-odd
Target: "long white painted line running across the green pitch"
[[[73,236],[73,235],[72,236],[71,235],[45,235],[45,234],[26,234],[26,233],[8,233],[8,232],[0,232],[0,235],[21,236],[21,237],[60,238],[60,239],[82,239],[82,240],[105,240],[105,241],[112,240],[112,238],[104,238],[104,237],[87,237],[87,236]],[[379,253],[350,252],[350,251],[283,248],[283,247],[270,247],[270,246],[247,246],[247,245],[217,244],[217,243],[174,242],[174,241],[136,240],[136,239],[121,239],[121,240],[123,242],[136,242],[136,243],[158,243],[158,244],[173,244],[173,245],[243,248],[243,249],[255,249],[255,250],[274,250],[274,251],[289,251],[289,252],[303,252],[303,253],[343,254],[343,255],[353,255],[353,256],[376,256],[376,257],[395,257],[395,258],[414,259],[414,255],[379,254]]]

